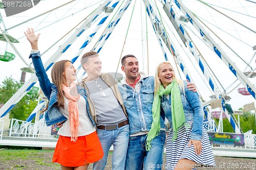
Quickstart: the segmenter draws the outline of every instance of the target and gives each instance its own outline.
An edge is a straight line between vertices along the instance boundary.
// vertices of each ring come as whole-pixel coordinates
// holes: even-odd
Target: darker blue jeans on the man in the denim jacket
[[[155,137],[151,143],[151,150],[146,151],[146,135],[133,136],[129,139],[125,170],[161,169],[163,167],[163,152],[165,132]]]

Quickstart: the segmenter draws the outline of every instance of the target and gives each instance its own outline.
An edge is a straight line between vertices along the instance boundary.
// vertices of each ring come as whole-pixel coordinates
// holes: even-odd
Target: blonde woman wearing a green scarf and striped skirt
[[[170,124],[166,139],[166,169],[196,169],[215,166],[209,137],[203,128],[204,112],[197,93],[189,91],[188,82],[175,76],[173,66],[162,62],[156,68],[153,123],[147,135],[147,149],[159,134],[160,111]]]

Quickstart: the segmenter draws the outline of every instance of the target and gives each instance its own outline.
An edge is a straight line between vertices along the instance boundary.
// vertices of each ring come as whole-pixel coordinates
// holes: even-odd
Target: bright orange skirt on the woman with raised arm
[[[63,166],[77,167],[96,162],[103,157],[103,150],[96,131],[79,136],[76,142],[71,137],[59,136],[52,162]]]

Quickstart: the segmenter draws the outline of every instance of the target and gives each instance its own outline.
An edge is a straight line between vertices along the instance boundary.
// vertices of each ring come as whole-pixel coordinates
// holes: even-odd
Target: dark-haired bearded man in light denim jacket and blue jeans
[[[139,62],[134,55],[126,55],[121,60],[121,69],[125,79],[118,88],[122,95],[130,123],[130,139],[127,150],[125,169],[161,169],[165,144],[165,115],[161,112],[160,134],[151,143],[151,150],[146,151],[146,134],[153,122],[152,105],[154,100],[154,77],[139,72]],[[196,90],[189,83],[189,90]]]

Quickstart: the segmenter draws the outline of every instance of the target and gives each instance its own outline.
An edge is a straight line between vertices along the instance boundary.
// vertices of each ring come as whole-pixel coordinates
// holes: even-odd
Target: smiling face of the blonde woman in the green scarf
[[[175,75],[173,67],[169,63],[163,63],[158,67],[158,78],[162,82],[164,87],[172,83],[174,77]]]

